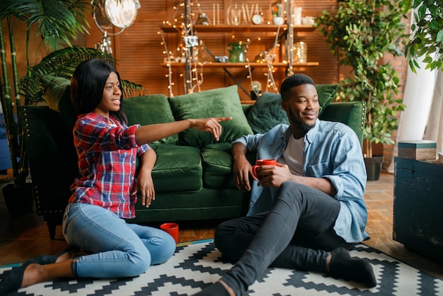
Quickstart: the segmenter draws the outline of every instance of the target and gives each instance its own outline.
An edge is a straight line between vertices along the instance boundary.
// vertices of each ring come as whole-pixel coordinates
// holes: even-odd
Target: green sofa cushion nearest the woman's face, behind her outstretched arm
[[[152,125],[174,121],[168,97],[163,94],[125,98],[123,110],[127,115],[128,125]],[[171,135],[156,142],[175,144],[178,142],[178,135]]]

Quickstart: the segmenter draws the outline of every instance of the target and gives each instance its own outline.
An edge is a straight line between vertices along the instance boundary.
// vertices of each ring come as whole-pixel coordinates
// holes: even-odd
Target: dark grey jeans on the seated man
[[[284,182],[270,212],[219,224],[214,244],[237,261],[223,277],[242,295],[268,266],[326,272],[329,251],[353,244],[335,234],[340,202],[320,190]]]

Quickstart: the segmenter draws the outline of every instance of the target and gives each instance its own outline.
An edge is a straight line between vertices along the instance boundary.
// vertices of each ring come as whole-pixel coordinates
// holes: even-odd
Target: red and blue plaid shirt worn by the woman
[[[108,118],[95,113],[79,116],[74,126],[74,145],[79,156],[80,178],[71,186],[69,202],[90,203],[122,218],[135,217],[137,196],[130,194],[135,181],[137,156],[151,149],[137,146],[139,125],[110,125]]]

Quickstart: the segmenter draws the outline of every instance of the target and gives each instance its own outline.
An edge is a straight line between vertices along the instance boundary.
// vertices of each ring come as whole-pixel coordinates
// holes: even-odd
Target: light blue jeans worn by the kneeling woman
[[[67,242],[91,255],[75,258],[80,278],[124,278],[144,273],[151,264],[166,262],[176,241],[161,229],[126,223],[113,212],[88,203],[69,203],[64,212]]]

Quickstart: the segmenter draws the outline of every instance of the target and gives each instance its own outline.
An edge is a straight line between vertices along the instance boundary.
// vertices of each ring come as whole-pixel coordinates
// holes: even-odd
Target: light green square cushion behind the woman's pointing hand
[[[228,86],[169,98],[176,120],[189,118],[232,117],[220,123],[223,127],[219,142],[232,142],[242,135],[252,134],[251,126],[241,108],[238,86]],[[179,144],[205,147],[215,143],[209,132],[189,129],[180,132]]]

